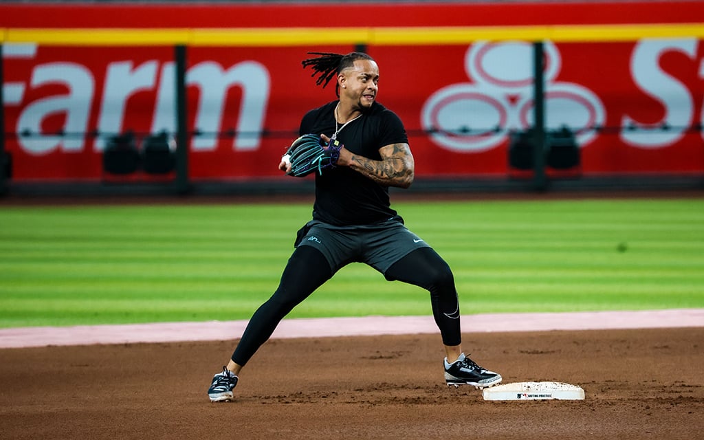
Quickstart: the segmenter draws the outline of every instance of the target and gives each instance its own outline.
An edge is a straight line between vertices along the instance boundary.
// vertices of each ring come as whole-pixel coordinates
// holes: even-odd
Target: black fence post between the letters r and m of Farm
[[[176,191],[189,191],[188,179],[188,114],[186,102],[186,46],[174,48],[176,58]]]

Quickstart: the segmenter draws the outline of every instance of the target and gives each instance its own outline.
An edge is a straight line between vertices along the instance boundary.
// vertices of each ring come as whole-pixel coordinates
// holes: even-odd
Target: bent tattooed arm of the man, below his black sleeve
[[[388,187],[408,188],[413,183],[413,156],[408,144],[392,144],[379,150],[381,161],[352,155],[349,166]]]

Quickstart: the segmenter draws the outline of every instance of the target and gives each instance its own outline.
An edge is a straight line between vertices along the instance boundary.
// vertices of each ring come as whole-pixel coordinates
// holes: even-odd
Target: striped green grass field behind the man
[[[395,203],[469,313],[704,307],[704,200]],[[309,204],[0,208],[0,327],[247,319]],[[291,318],[427,315],[353,264]]]

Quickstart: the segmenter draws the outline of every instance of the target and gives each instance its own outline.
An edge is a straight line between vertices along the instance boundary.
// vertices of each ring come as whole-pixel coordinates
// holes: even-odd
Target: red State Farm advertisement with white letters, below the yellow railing
[[[546,42],[548,130],[567,128],[581,175],[704,172],[704,44],[698,39]],[[192,180],[282,178],[277,163],[310,108],[335,99],[301,61],[353,46],[189,47]],[[368,46],[377,100],[406,125],[417,177],[510,173],[513,132],[533,125],[533,46]],[[6,44],[13,180],[100,180],[108,134],[176,130],[174,51]]]

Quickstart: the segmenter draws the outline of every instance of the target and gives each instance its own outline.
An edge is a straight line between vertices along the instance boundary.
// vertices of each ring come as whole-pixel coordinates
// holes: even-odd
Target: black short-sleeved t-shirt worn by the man
[[[335,132],[334,110],[337,101],[315,108],[301,120],[299,132]],[[338,128],[341,125],[338,124]],[[349,122],[337,139],[352,153],[381,160],[379,149],[391,144],[408,144],[403,122],[396,113],[373,103],[363,115]],[[348,167],[336,167],[315,174],[313,218],[332,225],[371,225],[396,215],[389,202],[389,187],[378,184]]]

